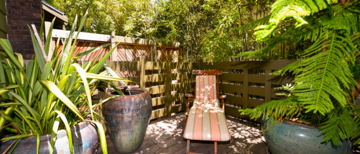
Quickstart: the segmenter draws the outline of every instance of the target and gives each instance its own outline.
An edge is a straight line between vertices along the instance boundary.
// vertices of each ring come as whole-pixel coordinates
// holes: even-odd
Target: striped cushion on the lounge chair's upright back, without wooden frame
[[[215,75],[196,75],[195,99],[217,99],[216,82]]]

